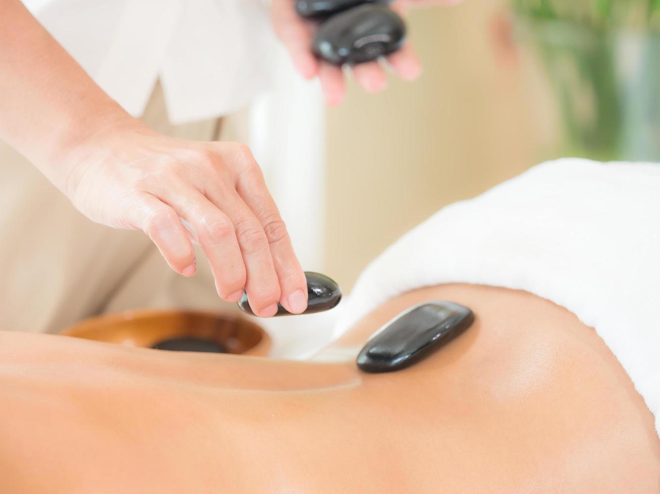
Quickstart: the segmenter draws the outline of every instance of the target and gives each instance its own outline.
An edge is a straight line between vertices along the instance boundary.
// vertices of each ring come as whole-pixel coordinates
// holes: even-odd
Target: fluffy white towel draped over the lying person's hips
[[[448,206],[362,273],[335,325],[408,290],[525,290],[595,328],[660,431],[660,165],[562,159]]]

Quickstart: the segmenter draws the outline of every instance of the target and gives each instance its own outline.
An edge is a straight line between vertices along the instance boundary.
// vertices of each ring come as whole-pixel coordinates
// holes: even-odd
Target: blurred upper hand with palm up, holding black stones
[[[458,3],[460,0],[398,0],[393,8],[405,13],[408,7]],[[340,67],[319,62],[312,53],[312,38],[318,22],[298,16],[295,0],[273,0],[272,9],[275,31],[286,47],[291,59],[304,77],[318,77],[325,101],[329,105],[339,105],[346,96],[344,73]],[[414,80],[422,72],[420,61],[411,43],[406,43],[399,51],[389,55],[387,62],[399,77]],[[387,74],[380,63],[362,63],[352,68],[353,76],[368,92],[378,92],[387,86]]]

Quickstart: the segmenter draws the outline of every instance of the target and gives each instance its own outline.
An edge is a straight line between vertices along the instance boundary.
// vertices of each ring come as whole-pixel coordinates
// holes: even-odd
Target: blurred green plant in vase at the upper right
[[[660,161],[660,0],[512,0],[562,123],[560,153]]]

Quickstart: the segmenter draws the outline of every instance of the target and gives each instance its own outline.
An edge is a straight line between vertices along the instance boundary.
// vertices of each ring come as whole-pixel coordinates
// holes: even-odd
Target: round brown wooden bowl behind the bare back
[[[152,348],[171,339],[213,341],[226,353],[263,356],[271,339],[261,327],[240,316],[181,310],[131,310],[86,319],[61,335]]]

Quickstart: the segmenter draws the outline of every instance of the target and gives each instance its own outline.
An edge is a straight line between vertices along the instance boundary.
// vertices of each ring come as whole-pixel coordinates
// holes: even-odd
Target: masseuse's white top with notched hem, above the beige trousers
[[[275,38],[265,0],[24,0],[131,115],[157,79],[170,122],[232,113],[269,85]]]

